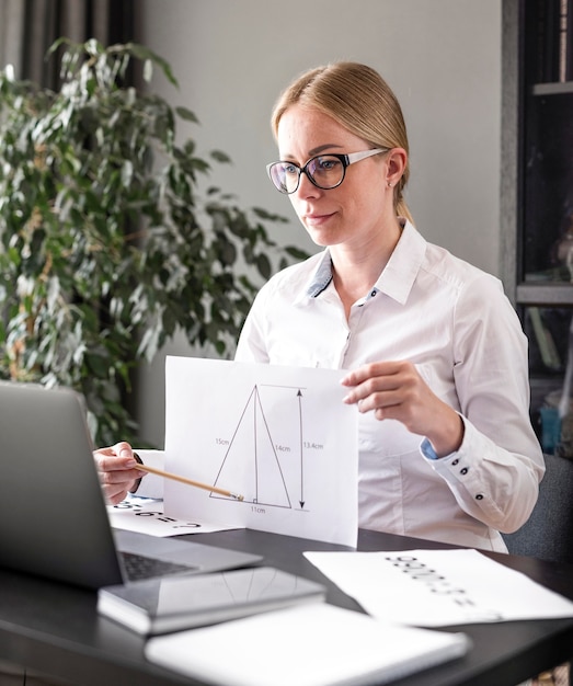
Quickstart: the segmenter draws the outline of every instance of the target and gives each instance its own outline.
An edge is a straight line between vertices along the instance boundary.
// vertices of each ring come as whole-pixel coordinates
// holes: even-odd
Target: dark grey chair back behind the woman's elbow
[[[529,519],[514,534],[503,534],[513,554],[573,562],[573,459],[545,455],[546,475]]]

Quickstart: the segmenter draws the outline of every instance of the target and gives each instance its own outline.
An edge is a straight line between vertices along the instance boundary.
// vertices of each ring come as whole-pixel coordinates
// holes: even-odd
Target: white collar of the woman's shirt
[[[424,260],[426,241],[410,221],[401,219],[401,224],[402,235],[400,240],[390,255],[388,264],[376,281],[371,293],[379,290],[403,305],[408,300]],[[308,282],[303,297],[317,298],[329,286],[331,281],[332,258],[326,249]]]

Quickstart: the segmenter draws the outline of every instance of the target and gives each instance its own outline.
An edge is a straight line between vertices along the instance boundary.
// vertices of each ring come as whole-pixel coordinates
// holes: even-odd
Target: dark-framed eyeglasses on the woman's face
[[[351,152],[349,155],[319,155],[311,158],[305,167],[299,167],[294,162],[272,162],[266,165],[266,171],[271,181],[280,193],[295,193],[300,184],[300,174],[307,174],[311,183],[318,188],[329,191],[340,186],[346,174],[346,167],[365,160],[373,155],[388,152],[390,148],[375,148],[363,152]]]

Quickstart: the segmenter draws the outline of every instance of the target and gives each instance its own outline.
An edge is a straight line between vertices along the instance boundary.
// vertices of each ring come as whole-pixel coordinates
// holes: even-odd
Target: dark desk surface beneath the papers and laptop
[[[188,537],[200,542],[263,554],[277,567],[328,586],[328,601],[357,606],[303,557],[306,550],[344,550],[300,538],[238,529]],[[448,548],[375,531],[360,531],[359,550]],[[573,599],[573,565],[488,553],[494,560]],[[78,686],[197,684],[148,663],[145,640],[99,617],[96,596],[66,585],[0,570],[0,660],[67,679]],[[573,659],[573,618],[457,627],[473,648],[461,660],[397,682],[400,686],[515,686],[529,676]]]

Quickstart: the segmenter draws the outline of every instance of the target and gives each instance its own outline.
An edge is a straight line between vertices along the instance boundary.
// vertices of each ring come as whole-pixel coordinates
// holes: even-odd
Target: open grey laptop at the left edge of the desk
[[[67,388],[0,381],[0,565],[92,590],[149,576],[215,572],[260,556],[112,529],[83,398]]]

